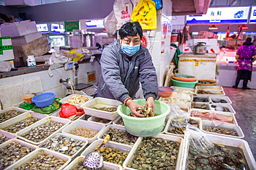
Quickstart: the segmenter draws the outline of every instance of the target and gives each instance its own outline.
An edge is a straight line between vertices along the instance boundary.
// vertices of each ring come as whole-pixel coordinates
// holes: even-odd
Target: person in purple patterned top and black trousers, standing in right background
[[[244,80],[242,89],[247,87],[248,81],[251,81],[253,61],[256,60],[256,48],[252,43],[252,38],[248,37],[246,42],[237,50],[237,79],[233,88],[237,88],[240,80]]]

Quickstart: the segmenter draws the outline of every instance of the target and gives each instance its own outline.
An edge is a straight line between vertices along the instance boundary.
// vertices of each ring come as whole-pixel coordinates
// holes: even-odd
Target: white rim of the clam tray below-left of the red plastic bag
[[[21,136],[21,135],[25,134],[26,132],[30,131],[32,128],[44,125],[48,121],[63,123],[64,125],[60,129],[57,129],[57,131],[53,132],[53,134],[51,134],[50,136],[48,136],[47,138],[45,138],[44,140],[42,140],[40,142],[33,142],[32,140],[28,140],[27,138],[24,138],[24,137]],[[22,129],[21,131],[18,131],[15,134],[15,136],[17,136],[17,138],[20,138],[20,139],[25,140],[27,142],[33,143],[34,145],[40,145],[41,143],[44,143],[44,142],[46,142],[46,140],[51,138],[51,136],[53,136],[53,135],[59,133],[60,131],[62,131],[62,129],[64,129],[64,127],[66,127],[69,123],[71,123],[71,120],[67,120],[65,118],[57,118],[55,116],[47,116],[46,118],[43,118],[42,120],[39,120],[37,123],[34,123],[33,125],[30,125],[29,127],[26,127],[24,129]]]

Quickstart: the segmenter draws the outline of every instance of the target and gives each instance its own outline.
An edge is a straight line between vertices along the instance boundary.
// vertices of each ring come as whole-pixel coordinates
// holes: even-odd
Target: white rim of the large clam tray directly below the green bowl
[[[165,134],[157,134],[156,136],[152,136],[152,137],[163,138],[165,140],[172,140],[172,141],[180,143],[178,158],[176,159],[176,170],[181,169],[181,164],[183,163],[183,159],[182,159],[183,158],[183,138],[181,138],[179,136],[171,136],[171,135],[165,135]],[[129,168],[127,166],[129,164],[131,164],[131,162],[134,158],[134,153],[136,152],[138,145],[140,145],[141,140],[143,140],[143,138],[139,138],[137,140],[136,144],[134,145],[134,147],[132,147],[129,155],[127,156],[124,164],[122,164],[122,167],[124,167],[125,169],[135,170],[135,169]]]

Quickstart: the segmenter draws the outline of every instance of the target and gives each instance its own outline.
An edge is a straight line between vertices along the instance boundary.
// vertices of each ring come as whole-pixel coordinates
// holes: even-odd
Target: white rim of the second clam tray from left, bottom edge
[[[71,157],[70,156],[66,156],[62,153],[58,153],[56,151],[51,151],[49,149],[44,149],[44,148],[39,148],[36,149],[35,151],[31,152],[29,154],[29,156],[26,156],[26,158],[22,159],[18,164],[12,164],[9,169],[16,169],[19,166],[22,166],[23,164],[26,164],[26,162],[29,162],[31,160],[33,160],[35,157],[37,157],[38,155],[53,155],[55,156],[57,159],[61,159],[66,161],[65,164],[62,165],[62,167],[60,167],[58,170],[64,169],[64,167],[66,167],[66,165],[69,164],[69,162],[71,162]]]

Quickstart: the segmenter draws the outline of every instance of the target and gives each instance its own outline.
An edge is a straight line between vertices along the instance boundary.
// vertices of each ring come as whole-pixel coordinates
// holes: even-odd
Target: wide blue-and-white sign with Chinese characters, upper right
[[[187,24],[247,23],[249,6],[208,8],[206,14],[188,15]]]

